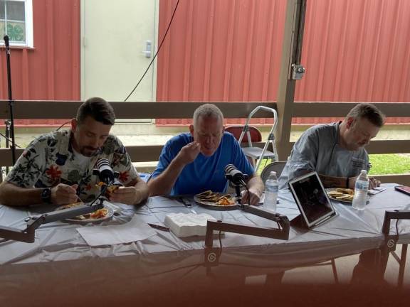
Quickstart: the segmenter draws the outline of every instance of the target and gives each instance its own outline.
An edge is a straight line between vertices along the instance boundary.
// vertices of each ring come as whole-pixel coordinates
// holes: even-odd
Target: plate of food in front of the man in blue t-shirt
[[[212,210],[236,210],[239,208],[233,195],[212,192],[211,190],[194,195],[194,200],[199,205]]]

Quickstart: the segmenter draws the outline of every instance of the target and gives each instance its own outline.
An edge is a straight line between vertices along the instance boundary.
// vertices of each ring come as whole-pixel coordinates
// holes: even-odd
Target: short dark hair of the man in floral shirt
[[[97,122],[111,126],[115,123],[114,109],[112,109],[111,104],[100,97],[87,99],[78,108],[75,117],[78,124],[83,124],[87,117],[92,117]]]

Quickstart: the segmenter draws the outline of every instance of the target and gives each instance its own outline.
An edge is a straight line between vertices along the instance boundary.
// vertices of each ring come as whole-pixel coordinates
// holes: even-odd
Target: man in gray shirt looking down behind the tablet
[[[279,188],[287,188],[293,178],[317,171],[327,188],[354,188],[362,169],[369,171],[364,146],[377,136],[384,114],[373,104],[353,107],[342,122],[319,124],[306,130],[293,146],[279,178]],[[369,178],[369,188],[380,181]]]

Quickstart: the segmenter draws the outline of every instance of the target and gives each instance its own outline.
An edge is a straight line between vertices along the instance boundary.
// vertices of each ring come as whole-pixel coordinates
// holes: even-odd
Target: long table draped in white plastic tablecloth
[[[378,249],[386,244],[382,234],[386,210],[410,208],[410,197],[384,184],[384,192],[370,197],[367,208],[354,210],[334,203],[337,216],[307,231],[291,228],[288,240],[270,239],[225,232],[214,237],[214,247],[221,249],[217,265],[206,262],[204,237],[179,238],[172,232],[156,230],[156,235],[139,242],[90,247],[73,225],[53,222],[36,230],[33,243],[0,243],[0,303],[11,297],[31,297],[32,306],[63,298],[72,303],[85,302],[93,296],[127,298],[172,289],[179,282],[191,284],[242,284],[245,276],[276,274],[285,269],[315,264],[328,259]],[[139,208],[120,205],[122,212],[102,225],[131,220],[134,215],[144,222],[162,225],[171,212],[205,212],[216,220],[243,225],[276,227],[276,223],[242,210],[216,211],[192,202],[186,206],[179,199],[153,197]],[[9,208],[0,205],[0,225],[23,229],[26,217],[51,210],[50,207]],[[280,191],[278,212],[292,218],[298,208],[289,191]],[[398,243],[410,239],[410,221],[400,220]],[[132,231],[132,230],[131,230]],[[391,234],[396,224],[391,223]],[[147,288],[148,287],[148,288]],[[158,288],[159,287],[159,288]],[[171,287],[171,288],[170,288]],[[147,290],[147,289],[149,290]],[[46,290],[45,290],[46,289]],[[144,290],[145,289],[145,290]]]

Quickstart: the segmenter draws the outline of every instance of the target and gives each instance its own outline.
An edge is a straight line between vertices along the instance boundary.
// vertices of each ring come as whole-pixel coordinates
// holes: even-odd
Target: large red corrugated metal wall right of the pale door
[[[175,4],[160,1],[160,39]],[[275,101],[285,6],[286,0],[182,0],[159,54],[157,100]],[[407,0],[308,0],[307,73],[295,101],[410,102],[409,28]]]

